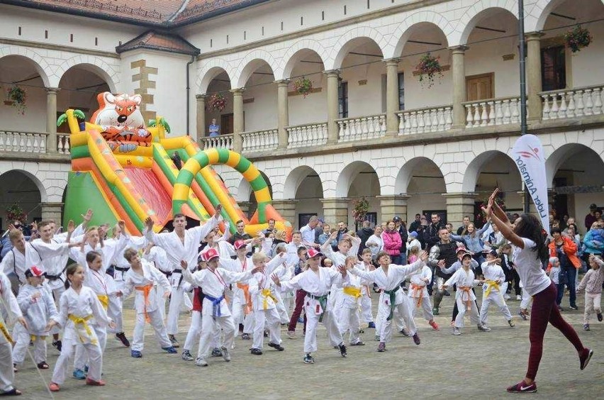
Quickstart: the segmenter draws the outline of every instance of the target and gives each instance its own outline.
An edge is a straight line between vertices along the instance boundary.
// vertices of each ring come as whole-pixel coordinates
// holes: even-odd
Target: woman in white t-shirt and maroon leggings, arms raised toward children
[[[564,318],[560,315],[556,304],[556,286],[550,281],[542,268],[541,260],[547,257],[548,252],[541,222],[534,215],[522,214],[515,221],[515,226],[512,228],[505,213],[494,201],[498,191],[499,189],[493,191],[491,198],[488,200],[488,206],[484,211],[487,216],[491,217],[491,221],[499,228],[503,236],[510,240],[514,246],[514,262],[520,275],[520,280],[524,284],[524,290],[533,298],[527,374],[525,379],[518,384],[508,387],[508,392],[530,393],[537,391],[535,376],[537,375],[537,369],[541,361],[543,336],[545,335],[548,322],[559,329],[575,346],[581,370],[587,366],[593,355],[593,351],[583,347],[583,343],[581,343],[581,339],[578,338],[574,328],[564,321]]]

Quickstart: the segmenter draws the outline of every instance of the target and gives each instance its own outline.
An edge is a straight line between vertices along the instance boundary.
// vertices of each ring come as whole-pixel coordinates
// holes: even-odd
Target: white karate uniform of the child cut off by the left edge
[[[11,391],[15,380],[13,372],[12,346],[9,341],[9,327],[6,324],[6,317],[9,321],[23,316],[17,303],[17,299],[11,290],[11,281],[6,274],[0,272],[0,391]],[[8,337],[7,337],[8,336]]]

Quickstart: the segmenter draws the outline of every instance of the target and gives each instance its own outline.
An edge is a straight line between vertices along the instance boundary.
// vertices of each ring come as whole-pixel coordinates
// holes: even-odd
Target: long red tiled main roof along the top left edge
[[[6,4],[145,26],[182,26],[268,0],[2,0]]]

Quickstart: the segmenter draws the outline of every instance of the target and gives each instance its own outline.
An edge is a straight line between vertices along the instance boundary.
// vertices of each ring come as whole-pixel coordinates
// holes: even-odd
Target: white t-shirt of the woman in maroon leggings
[[[521,238],[525,248],[514,246],[514,265],[522,281],[522,286],[531,296],[544,291],[552,284],[542,268],[541,260],[537,257],[535,242],[527,238]]]

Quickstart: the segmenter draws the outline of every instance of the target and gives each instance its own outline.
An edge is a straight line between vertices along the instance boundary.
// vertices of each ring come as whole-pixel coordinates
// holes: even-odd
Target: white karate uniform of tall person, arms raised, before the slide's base
[[[183,276],[180,262],[185,260],[187,265],[197,265],[197,255],[199,243],[205,238],[213,228],[218,226],[220,218],[212,217],[202,226],[186,229],[184,231],[184,240],[181,240],[176,232],[155,233],[153,230],[145,228],[145,238],[155,243],[156,246],[166,250],[166,255],[169,261],[169,268],[172,272],[170,283],[172,284],[172,294],[170,296],[170,306],[168,309],[168,320],[166,328],[168,335],[176,335],[178,333],[178,316],[180,306],[184,300],[184,287],[181,285],[181,277]]]

